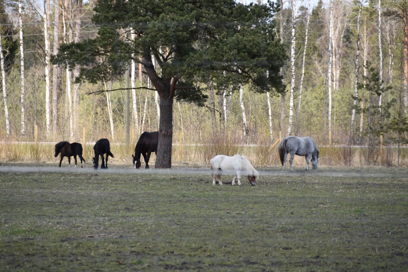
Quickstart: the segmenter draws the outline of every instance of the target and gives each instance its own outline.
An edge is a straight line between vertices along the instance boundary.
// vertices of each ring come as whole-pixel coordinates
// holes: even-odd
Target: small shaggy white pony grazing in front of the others
[[[259,173],[246,156],[234,155],[232,157],[217,155],[210,161],[211,176],[213,176],[213,185],[215,185],[215,177],[218,178],[218,183],[222,185],[222,172],[234,174],[232,185],[235,185],[235,178],[238,178],[238,185],[241,185],[241,174],[247,175],[252,186],[255,186],[255,180],[259,177]]]

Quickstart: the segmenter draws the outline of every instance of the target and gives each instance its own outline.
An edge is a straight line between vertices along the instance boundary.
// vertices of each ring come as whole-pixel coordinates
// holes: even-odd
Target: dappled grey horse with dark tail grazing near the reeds
[[[279,157],[283,165],[282,171],[285,171],[286,156],[290,154],[290,171],[293,171],[293,159],[295,155],[305,156],[306,171],[309,171],[309,161],[312,158],[313,171],[317,169],[319,163],[319,147],[315,140],[310,137],[299,138],[296,136],[288,136],[283,138],[278,146]]]

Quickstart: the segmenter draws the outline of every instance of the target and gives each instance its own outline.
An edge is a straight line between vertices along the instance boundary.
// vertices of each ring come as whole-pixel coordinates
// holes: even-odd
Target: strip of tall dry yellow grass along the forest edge
[[[231,133],[228,137],[226,134],[205,134],[202,135],[202,140],[192,141],[186,140],[183,143],[182,153],[180,156],[180,143],[174,139],[175,143],[172,148],[172,163],[173,165],[196,165],[206,167],[211,158],[222,154],[233,156],[242,154],[248,157],[251,163],[257,167],[280,166],[277,147],[271,148],[270,140],[267,136],[258,136],[257,145],[245,145],[244,138],[241,135]],[[0,139],[0,163],[55,163],[59,162],[58,158],[54,157],[54,143],[38,143],[35,149],[34,143],[19,143],[10,139]],[[111,143],[111,152],[115,158],[109,158],[109,163],[132,165],[132,154],[134,153],[134,144],[124,145]],[[384,146],[383,156],[379,147],[373,145],[368,150],[366,147],[335,147],[331,149],[322,146],[320,150],[319,166],[329,167],[365,167],[365,166],[381,166],[395,167],[397,166],[397,148]],[[400,166],[408,166],[408,149],[401,148]],[[368,162],[367,162],[368,152]],[[85,145],[83,157],[86,160],[86,166],[92,166],[93,145]],[[304,158],[295,156],[297,160],[294,166],[304,167]],[[155,164],[156,156],[151,155],[149,165]],[[63,164],[67,164],[67,158]]]

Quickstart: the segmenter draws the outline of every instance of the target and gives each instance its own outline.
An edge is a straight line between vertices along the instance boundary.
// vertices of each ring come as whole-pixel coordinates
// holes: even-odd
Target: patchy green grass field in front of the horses
[[[408,270],[407,169],[302,168],[0,172],[0,271]]]

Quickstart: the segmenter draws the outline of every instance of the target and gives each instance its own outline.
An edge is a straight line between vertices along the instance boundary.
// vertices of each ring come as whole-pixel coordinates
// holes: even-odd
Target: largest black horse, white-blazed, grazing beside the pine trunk
[[[144,162],[146,163],[146,169],[149,168],[149,159],[152,152],[157,155],[157,143],[159,143],[159,132],[143,132],[140,135],[135,147],[135,156],[132,154],[133,165],[135,169],[139,169],[140,165],[140,154],[143,155]]]

